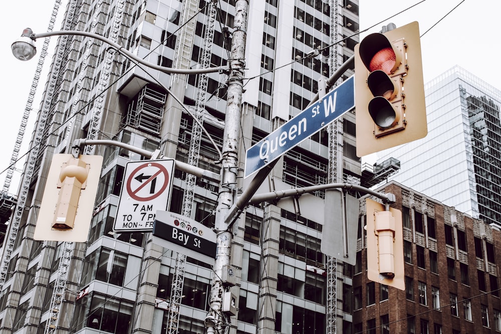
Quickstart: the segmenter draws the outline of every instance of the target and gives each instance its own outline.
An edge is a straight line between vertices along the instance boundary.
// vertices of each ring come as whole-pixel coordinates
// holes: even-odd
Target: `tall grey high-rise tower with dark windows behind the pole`
[[[205,1],[70,0],[63,30],[101,34],[160,66],[196,68],[207,59],[211,67],[223,66],[228,62],[235,1],[214,4],[211,28],[210,2]],[[358,29],[357,0],[249,2],[240,158],[245,148],[307,106],[318,80],[329,78],[353,55],[358,37],[352,35]],[[213,43],[207,56],[208,38]],[[312,50],[319,55],[306,57]],[[351,74],[353,70],[343,78]],[[19,228],[7,231],[12,244],[8,237],[4,242],[9,265],[0,292],[0,333],[38,334],[46,328],[60,333],[159,333],[167,331],[169,323],[175,323],[179,333],[204,332],[211,267],[187,258],[180,271],[182,259],[155,245],[150,233],[113,231],[124,167],[143,159],[138,154],[111,146],[85,148],[84,153],[104,157],[87,243],[42,242],[33,240],[33,233],[52,156],[70,153],[78,138],[160,149],[182,162],[189,162],[194,153],[199,167],[218,173],[217,149],[208,136],[220,149],[226,80],[225,73],[203,79],[144,69],[98,41],[60,38],[32,137],[36,150],[28,158],[20,189],[27,197],[19,211]],[[202,104],[201,91],[206,93]],[[202,120],[206,133],[197,130],[188,111]],[[353,111],[345,114],[329,132],[319,131],[285,154],[272,176],[294,187],[340,180],[359,183],[354,123]],[[166,209],[189,212],[192,219],[213,226],[219,185],[197,179],[186,200],[188,178],[176,170]],[[263,333],[332,333],[351,328],[351,312],[337,307],[344,293],[343,264],[320,252],[322,223],[262,204],[247,208],[237,224],[231,264],[238,278],[231,291],[237,296],[238,315],[228,321],[230,332],[254,333],[259,328]],[[179,278],[182,298],[172,322],[172,282]],[[51,305],[61,286],[55,312]]]

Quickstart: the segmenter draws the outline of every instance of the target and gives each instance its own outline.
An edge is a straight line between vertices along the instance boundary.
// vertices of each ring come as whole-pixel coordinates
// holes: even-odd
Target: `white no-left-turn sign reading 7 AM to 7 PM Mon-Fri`
[[[151,232],[155,212],[168,208],[173,173],[173,159],[128,162],[113,230]]]

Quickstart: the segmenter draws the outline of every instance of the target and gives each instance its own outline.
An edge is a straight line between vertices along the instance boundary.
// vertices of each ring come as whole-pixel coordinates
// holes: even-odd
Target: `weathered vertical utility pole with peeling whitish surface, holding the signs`
[[[245,39],[247,31],[248,1],[235,3],[234,30],[229,59],[230,73],[221,160],[221,183],[215,215],[217,250],[214,277],[210,291],[209,312],[205,318],[207,333],[223,333],[229,325],[229,318],[222,312],[225,286],[221,280],[222,270],[230,263],[232,234],[225,220],[236,195],[238,148],[240,145],[240,117],[243,91],[243,69],[245,67]]]

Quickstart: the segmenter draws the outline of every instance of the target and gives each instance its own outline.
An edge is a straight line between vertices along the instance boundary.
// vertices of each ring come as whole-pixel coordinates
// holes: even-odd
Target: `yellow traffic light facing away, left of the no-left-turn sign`
[[[35,226],[35,240],[87,240],[103,157],[55,154]]]

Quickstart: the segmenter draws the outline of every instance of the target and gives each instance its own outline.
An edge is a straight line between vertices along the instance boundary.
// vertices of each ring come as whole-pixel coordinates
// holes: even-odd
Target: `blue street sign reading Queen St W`
[[[355,107],[355,80],[351,76],[315,104],[250,147],[245,154],[244,177],[260,170]]]

